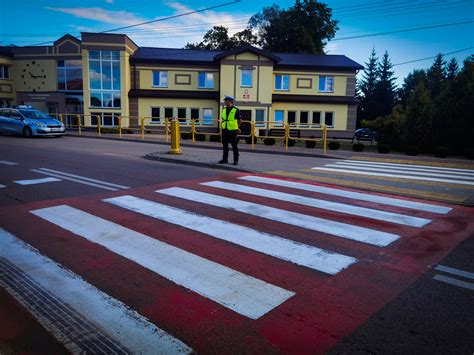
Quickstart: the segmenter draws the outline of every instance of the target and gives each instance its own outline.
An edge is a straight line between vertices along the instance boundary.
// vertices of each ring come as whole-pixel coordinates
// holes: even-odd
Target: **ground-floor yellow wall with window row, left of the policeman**
[[[151,123],[152,107],[160,108],[160,118],[165,118],[165,108],[173,108],[173,116],[178,116],[178,108],[186,108],[186,117],[191,118],[191,109],[199,109],[199,118],[202,122],[203,109],[211,108],[214,126],[217,125],[219,118],[219,105],[216,100],[200,100],[200,99],[169,99],[169,98],[139,98],[138,99],[138,115],[145,118],[146,125]],[[194,117],[193,117],[194,118]]]

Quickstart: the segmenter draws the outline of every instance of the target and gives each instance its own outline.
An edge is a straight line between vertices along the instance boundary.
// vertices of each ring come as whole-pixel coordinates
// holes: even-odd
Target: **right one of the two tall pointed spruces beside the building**
[[[393,72],[393,64],[387,51],[384,53],[379,64],[378,74],[379,78],[375,84],[373,103],[373,115],[375,117],[388,115],[395,105],[396,78]]]

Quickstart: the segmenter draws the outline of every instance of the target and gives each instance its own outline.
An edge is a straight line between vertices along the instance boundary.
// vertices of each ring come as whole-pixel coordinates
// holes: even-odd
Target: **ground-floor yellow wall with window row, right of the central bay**
[[[309,122],[312,120],[312,112],[322,112],[321,122],[324,123],[324,112],[334,112],[334,127],[328,127],[329,130],[346,130],[347,129],[347,105],[344,104],[312,104],[312,103],[286,103],[277,102],[273,104],[270,120],[274,120],[275,111],[282,110],[284,112],[285,122],[287,122],[288,111],[296,111],[296,122],[299,123],[301,111],[309,112]]]

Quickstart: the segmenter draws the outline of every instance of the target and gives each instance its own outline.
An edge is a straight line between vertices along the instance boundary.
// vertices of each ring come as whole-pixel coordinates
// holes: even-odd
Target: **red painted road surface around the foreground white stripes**
[[[423,227],[413,227],[376,220],[370,215],[357,216],[200,184],[211,181],[209,179],[46,201],[14,209],[4,208],[0,210],[0,221],[7,231],[122,301],[195,351],[212,353],[326,352],[474,233],[473,210],[465,207],[396,197],[405,201],[452,207],[449,213],[440,214],[244,181],[238,179],[239,176],[243,175],[212,181],[226,181],[294,196],[394,212],[429,219],[431,222]],[[312,185],[342,190],[330,185]],[[249,201],[392,233],[400,238],[387,246],[377,246],[155,192],[170,187]],[[389,196],[368,192],[363,194]],[[356,258],[357,262],[330,275],[102,201],[123,195],[230,221],[350,256]],[[263,316],[251,319],[30,212],[58,205],[88,212],[295,294]],[[126,344],[126,339],[123,342]]]

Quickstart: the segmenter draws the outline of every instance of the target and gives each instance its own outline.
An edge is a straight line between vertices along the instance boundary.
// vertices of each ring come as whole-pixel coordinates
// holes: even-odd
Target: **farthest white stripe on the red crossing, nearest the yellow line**
[[[310,185],[310,184],[306,184],[302,182],[274,179],[274,178],[268,178],[268,177],[263,177],[263,176],[249,175],[249,176],[239,177],[239,179],[245,180],[245,181],[258,182],[262,184],[274,185],[274,186],[288,187],[288,188],[298,189],[298,190],[303,190],[303,191],[317,192],[317,193],[326,194],[326,195],[345,197],[345,198],[350,198],[354,200],[368,201],[368,202],[380,203],[380,204],[396,206],[396,207],[404,207],[404,208],[415,209],[415,210],[426,211],[426,212],[446,214],[452,210],[452,208],[450,207],[432,205],[432,204],[423,203],[423,202],[401,200],[401,199],[393,198],[393,197],[371,195],[368,193],[335,189],[335,188],[319,186],[319,185]]]

